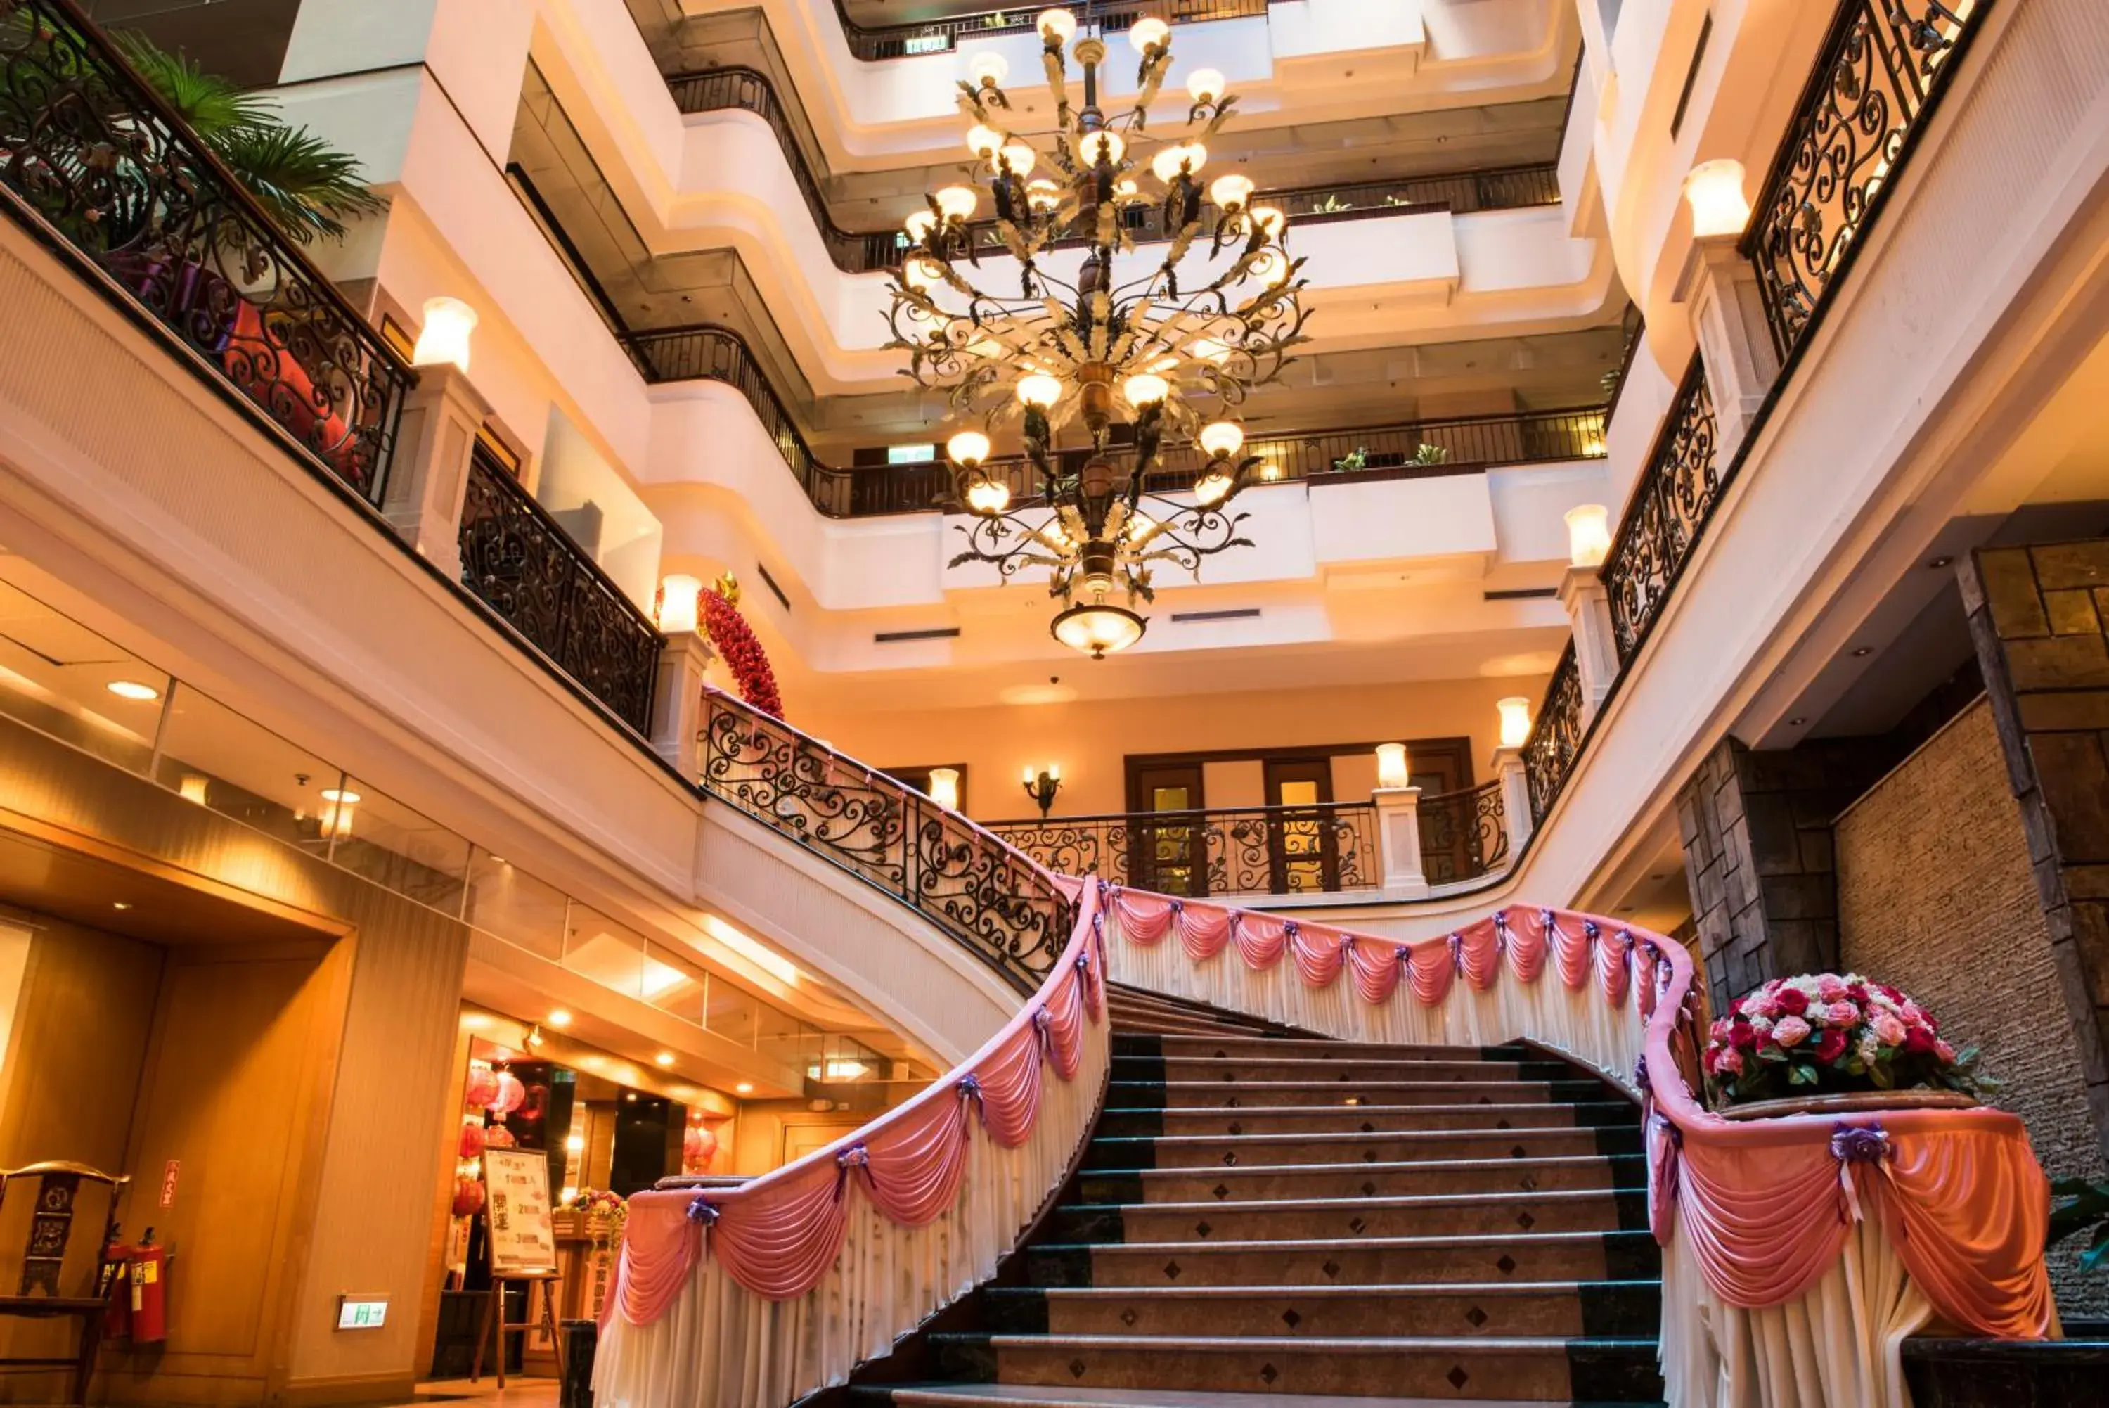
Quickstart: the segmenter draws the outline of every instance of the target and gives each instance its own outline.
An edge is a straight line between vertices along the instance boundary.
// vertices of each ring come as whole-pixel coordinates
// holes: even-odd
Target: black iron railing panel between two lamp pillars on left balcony
[[[658,627],[481,452],[462,500],[462,585],[616,718],[652,730]]]

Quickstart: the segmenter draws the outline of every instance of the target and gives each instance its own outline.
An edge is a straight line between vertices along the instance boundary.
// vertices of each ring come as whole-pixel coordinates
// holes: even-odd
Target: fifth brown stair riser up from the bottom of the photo
[[[1084,1174],[1078,1191],[1086,1203],[1244,1203],[1257,1199],[1320,1197],[1438,1197],[1445,1193],[1575,1193],[1641,1188],[1647,1169],[1639,1159],[1481,1161],[1415,1167],[1312,1167],[1297,1174],[1196,1169],[1192,1174]]]

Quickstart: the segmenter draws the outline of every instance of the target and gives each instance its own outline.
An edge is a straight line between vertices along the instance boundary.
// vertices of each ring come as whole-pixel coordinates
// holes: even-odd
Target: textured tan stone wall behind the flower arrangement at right
[[[1837,882],[1843,965],[1926,1003],[1957,1047],[1982,1045],[2004,1083],[1995,1104],[2029,1121],[2052,1178],[2101,1178],[2079,1045],[1982,699],[1839,819]],[[2052,1260],[2058,1307],[2109,1311],[2109,1281],[2077,1275],[2075,1256]]]

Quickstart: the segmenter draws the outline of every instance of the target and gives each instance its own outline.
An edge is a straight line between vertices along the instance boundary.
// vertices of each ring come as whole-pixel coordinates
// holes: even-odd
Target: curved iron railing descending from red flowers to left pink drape
[[[702,741],[711,796],[913,906],[1019,992],[1033,992],[1069,941],[1054,882],[924,794],[717,690]]]

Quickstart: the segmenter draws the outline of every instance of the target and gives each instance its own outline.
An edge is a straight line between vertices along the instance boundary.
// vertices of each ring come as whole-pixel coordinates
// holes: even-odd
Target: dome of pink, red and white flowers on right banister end
[[[1982,1096],[1976,1047],[1957,1051],[1940,1024],[1890,984],[1858,973],[1776,977],[1713,1024],[1704,1070],[1717,1104],[1864,1089]]]

